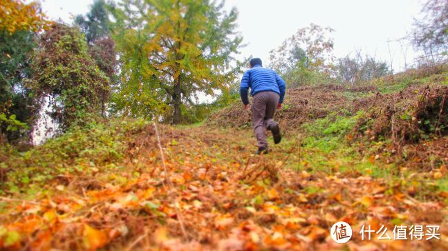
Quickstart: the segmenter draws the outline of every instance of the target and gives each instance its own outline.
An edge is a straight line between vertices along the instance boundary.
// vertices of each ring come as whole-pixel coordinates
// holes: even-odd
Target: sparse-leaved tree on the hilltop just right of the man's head
[[[333,38],[328,34],[332,28],[322,28],[314,23],[300,28],[270,51],[270,68],[280,72],[289,86],[308,83],[322,74],[329,76],[333,56]]]

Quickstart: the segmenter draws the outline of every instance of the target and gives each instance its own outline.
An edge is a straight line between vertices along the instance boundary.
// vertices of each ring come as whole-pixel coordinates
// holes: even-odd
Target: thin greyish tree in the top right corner
[[[421,12],[423,16],[413,23],[411,43],[434,64],[448,53],[448,1],[429,0]]]

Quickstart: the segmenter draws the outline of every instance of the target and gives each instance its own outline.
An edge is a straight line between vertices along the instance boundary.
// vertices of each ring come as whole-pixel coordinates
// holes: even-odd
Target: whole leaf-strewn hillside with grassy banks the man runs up
[[[111,119],[3,146],[0,248],[446,250],[447,81],[438,68],[288,90],[283,141],[261,156],[239,101],[198,125]],[[439,225],[441,240],[367,241],[362,225]]]

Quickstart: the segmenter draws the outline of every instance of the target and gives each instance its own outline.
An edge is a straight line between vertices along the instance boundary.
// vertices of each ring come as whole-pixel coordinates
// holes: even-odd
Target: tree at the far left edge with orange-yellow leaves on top
[[[50,22],[37,2],[3,0],[0,5],[0,137],[17,139],[31,117],[30,55],[35,35]]]

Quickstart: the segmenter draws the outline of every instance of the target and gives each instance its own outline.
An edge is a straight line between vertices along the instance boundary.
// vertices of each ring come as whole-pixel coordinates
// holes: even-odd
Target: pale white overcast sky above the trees
[[[93,0],[42,0],[48,17],[73,21],[73,15],[85,14]],[[329,26],[336,57],[344,57],[356,50],[375,55],[389,65],[389,48],[395,71],[412,63],[415,53],[411,46],[400,46],[396,40],[411,30],[414,17],[420,12],[419,0],[227,0],[226,8],[239,10],[239,31],[243,43],[239,58],[261,57],[268,64],[269,51],[310,23]]]

